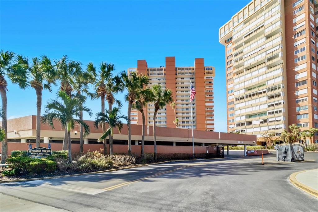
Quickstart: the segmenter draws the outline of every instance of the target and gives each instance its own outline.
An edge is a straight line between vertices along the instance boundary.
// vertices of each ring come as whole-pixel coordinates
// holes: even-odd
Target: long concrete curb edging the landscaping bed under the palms
[[[28,178],[28,179],[19,179],[19,180],[1,180],[0,183],[6,183],[6,182],[21,182],[21,181],[31,181],[31,180],[45,180],[45,179],[53,179],[53,178],[62,178],[62,177],[72,177],[72,176],[79,176],[79,175],[85,175],[85,174],[96,174],[96,173],[104,173],[104,172],[114,172],[122,169],[132,169],[132,168],[138,168],[142,166],[151,166],[151,165],[157,165],[162,163],[171,163],[171,162],[181,162],[181,161],[191,161],[191,160],[216,160],[216,159],[227,159],[227,158],[209,158],[209,159],[189,159],[189,160],[168,160],[163,162],[157,162],[157,163],[149,163],[149,164],[143,164],[138,166],[127,166],[117,169],[108,169],[104,171],[97,171],[97,172],[88,172],[88,173],[80,173],[80,174],[69,174],[69,175],[62,175],[62,176],[52,176],[52,177],[39,177],[39,178]]]

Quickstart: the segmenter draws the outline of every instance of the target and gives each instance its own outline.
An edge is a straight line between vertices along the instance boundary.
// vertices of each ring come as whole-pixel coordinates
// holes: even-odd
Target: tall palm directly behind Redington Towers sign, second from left
[[[42,59],[37,57],[32,58],[32,63],[29,64],[28,58],[18,55],[20,60],[28,66],[28,81],[32,88],[35,89],[37,95],[37,121],[36,121],[36,147],[40,146],[41,137],[41,106],[42,106],[42,90],[47,89],[52,92],[51,84],[55,84],[57,78],[56,72],[54,71],[51,60],[43,55]]]

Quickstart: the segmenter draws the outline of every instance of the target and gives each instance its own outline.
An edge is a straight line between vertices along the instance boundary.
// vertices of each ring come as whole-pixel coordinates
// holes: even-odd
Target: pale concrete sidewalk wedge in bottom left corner
[[[66,212],[66,210],[42,205],[13,196],[0,194],[0,209],[3,212],[15,211],[41,211],[41,212]]]

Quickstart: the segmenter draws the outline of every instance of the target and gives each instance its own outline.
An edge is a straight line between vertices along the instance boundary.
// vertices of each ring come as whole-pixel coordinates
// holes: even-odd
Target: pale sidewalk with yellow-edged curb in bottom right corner
[[[318,169],[295,172],[289,180],[296,187],[318,198]]]

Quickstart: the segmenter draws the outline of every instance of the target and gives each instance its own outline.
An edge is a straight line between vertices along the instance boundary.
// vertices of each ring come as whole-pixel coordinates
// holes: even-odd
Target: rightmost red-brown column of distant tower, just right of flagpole
[[[205,95],[204,95],[204,59],[194,60],[195,90],[196,90],[196,130],[206,130]]]

